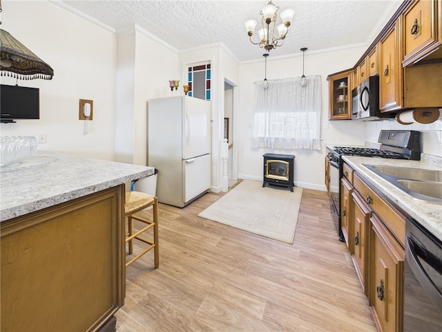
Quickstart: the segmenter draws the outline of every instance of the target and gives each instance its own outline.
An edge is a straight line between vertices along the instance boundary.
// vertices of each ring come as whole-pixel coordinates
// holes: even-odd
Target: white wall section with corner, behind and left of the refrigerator
[[[118,36],[116,160],[147,165],[147,102],[171,95],[180,66],[176,51],[133,28]]]

